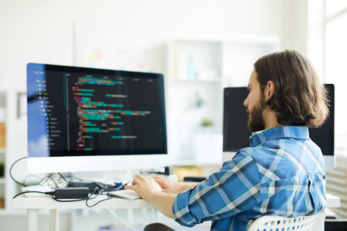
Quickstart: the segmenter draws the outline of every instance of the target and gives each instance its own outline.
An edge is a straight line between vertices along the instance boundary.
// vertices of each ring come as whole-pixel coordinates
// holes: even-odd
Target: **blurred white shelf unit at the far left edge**
[[[15,160],[25,155],[25,90],[0,88],[0,215],[18,213],[12,209],[11,200],[19,189],[10,178],[9,170]]]

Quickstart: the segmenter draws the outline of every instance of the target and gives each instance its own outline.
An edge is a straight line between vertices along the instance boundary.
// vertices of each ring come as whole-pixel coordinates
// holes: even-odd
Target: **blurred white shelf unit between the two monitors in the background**
[[[176,35],[169,39],[165,87],[169,152],[174,164],[193,165],[201,160],[196,153],[201,151],[196,141],[203,139],[198,134],[205,133],[201,121],[210,120],[209,133],[221,135],[223,88],[248,85],[254,62],[276,51],[278,41],[274,35]],[[216,137],[210,145],[219,144]],[[206,144],[205,148],[211,147]],[[219,155],[211,153],[210,161],[214,157],[221,160]]]

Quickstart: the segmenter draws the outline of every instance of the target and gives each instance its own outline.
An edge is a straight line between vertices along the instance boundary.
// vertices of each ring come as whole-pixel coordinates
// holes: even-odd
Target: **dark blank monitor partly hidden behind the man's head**
[[[310,138],[321,148],[325,169],[333,169],[334,161],[334,110],[335,88],[325,84],[330,100],[330,115],[321,128],[309,128]],[[223,152],[234,153],[249,146],[248,115],[244,100],[248,95],[246,87],[227,87],[224,89],[223,108]]]

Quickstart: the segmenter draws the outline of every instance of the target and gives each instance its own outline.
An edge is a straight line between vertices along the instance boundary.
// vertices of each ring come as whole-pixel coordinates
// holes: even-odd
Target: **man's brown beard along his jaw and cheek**
[[[264,119],[262,118],[262,112],[266,108],[266,103],[264,101],[264,96],[260,98],[260,102],[251,111],[246,109],[248,114],[248,130],[250,132],[257,132],[259,130],[264,130]]]

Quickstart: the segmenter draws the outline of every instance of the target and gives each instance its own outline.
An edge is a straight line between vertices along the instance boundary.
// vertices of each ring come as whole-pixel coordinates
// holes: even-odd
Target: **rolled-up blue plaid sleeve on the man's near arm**
[[[238,152],[217,173],[196,187],[178,194],[172,211],[180,225],[192,227],[203,221],[233,216],[257,205],[260,176],[253,158]]]

